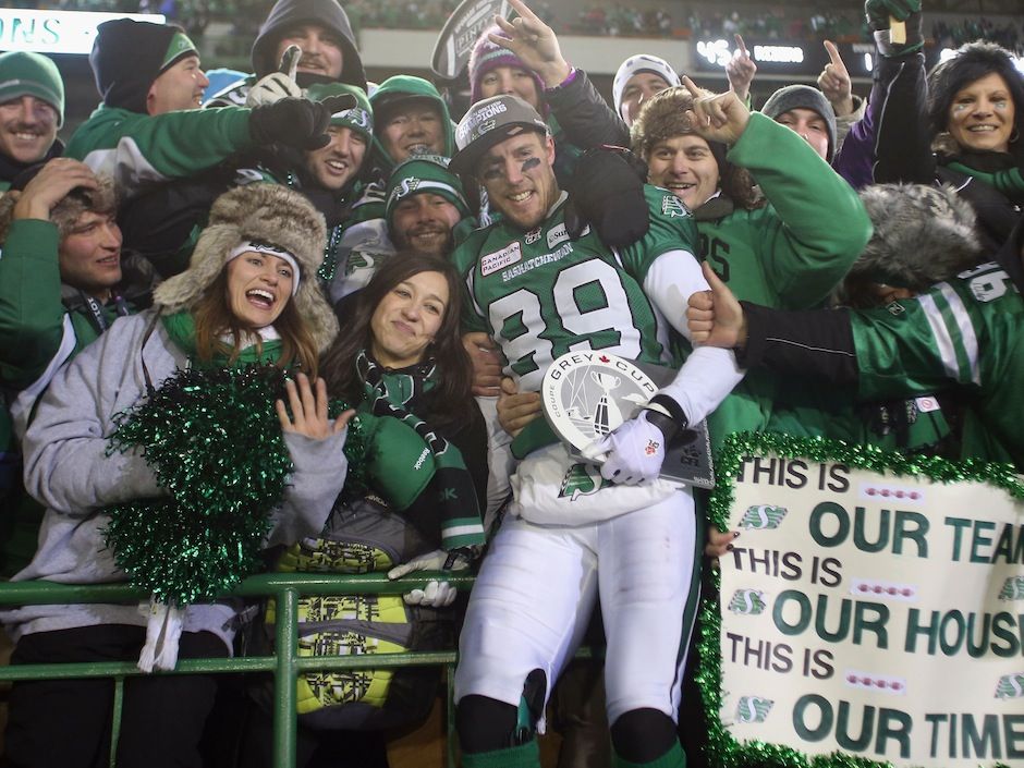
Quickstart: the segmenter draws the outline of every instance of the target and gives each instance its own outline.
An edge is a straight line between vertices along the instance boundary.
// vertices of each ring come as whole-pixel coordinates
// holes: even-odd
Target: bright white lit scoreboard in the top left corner
[[[88,53],[96,27],[111,19],[135,19],[163,24],[158,13],[94,13],[0,9],[0,51]]]

